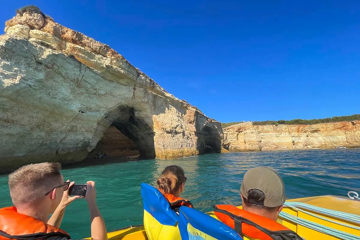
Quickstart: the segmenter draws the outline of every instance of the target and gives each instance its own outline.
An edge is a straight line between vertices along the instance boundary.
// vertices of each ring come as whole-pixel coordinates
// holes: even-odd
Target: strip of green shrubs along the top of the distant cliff
[[[258,121],[258,122],[252,122],[254,125],[275,125],[278,126],[279,124],[287,124],[287,125],[297,125],[297,124],[317,124],[317,123],[328,123],[328,122],[345,122],[345,121],[355,121],[360,120],[360,114],[354,114],[350,116],[336,116],[332,118],[319,118],[319,119],[292,119],[292,120],[279,120],[279,121]],[[229,123],[221,123],[221,127],[229,127],[235,124],[238,124],[241,122],[229,122]]]

